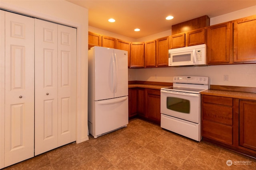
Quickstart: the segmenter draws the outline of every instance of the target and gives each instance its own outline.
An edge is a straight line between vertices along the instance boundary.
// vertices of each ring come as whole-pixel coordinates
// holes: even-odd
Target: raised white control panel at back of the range
[[[174,76],[173,83],[208,85],[209,77],[205,76]]]

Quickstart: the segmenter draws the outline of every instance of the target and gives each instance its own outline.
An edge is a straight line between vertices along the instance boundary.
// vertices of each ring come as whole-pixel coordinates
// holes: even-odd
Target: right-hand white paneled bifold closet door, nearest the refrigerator
[[[76,140],[76,29],[35,19],[35,155]]]

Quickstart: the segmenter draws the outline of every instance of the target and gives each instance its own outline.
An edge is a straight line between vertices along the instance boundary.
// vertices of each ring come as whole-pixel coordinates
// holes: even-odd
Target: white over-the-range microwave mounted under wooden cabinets
[[[206,65],[206,44],[169,50],[169,66]]]

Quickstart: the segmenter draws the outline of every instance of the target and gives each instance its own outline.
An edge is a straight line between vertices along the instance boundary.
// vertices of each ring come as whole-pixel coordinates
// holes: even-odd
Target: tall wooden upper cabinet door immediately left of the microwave
[[[156,39],[156,65],[168,66],[169,36]]]

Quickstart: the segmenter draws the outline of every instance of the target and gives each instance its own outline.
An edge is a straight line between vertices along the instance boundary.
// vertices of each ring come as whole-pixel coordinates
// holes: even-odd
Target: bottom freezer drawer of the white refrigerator
[[[96,101],[95,112],[89,119],[89,133],[98,136],[128,124],[128,96]]]

